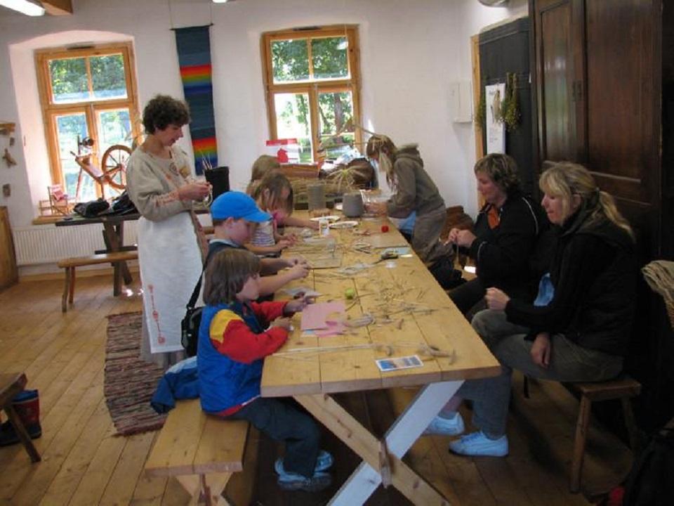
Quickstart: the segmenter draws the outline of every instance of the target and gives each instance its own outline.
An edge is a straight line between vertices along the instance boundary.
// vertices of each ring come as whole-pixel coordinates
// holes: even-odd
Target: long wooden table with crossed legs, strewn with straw
[[[265,359],[262,395],[296,398],[362,458],[331,504],[362,504],[379,484],[392,484],[414,504],[447,504],[402,458],[464,380],[497,375],[500,366],[418,257],[375,264],[382,249],[357,250],[363,243],[407,244],[393,226],[381,233],[382,223],[381,219],[361,221],[356,229],[331,231],[343,251],[342,268],[358,263],[371,266],[355,275],[340,274],[337,268],[315,269],[295,282],[320,292],[319,302],[345,300],[345,290],[354,289],[355,299],[345,300],[347,323],[353,325],[368,314],[374,323],[348,326],[343,335],[316,337],[300,332],[300,315],[296,315],[288,342]],[[357,235],[364,230],[371,235]],[[292,255],[293,249],[287,254]],[[423,367],[381,372],[375,363],[378,358],[410,355],[419,356]],[[423,388],[382,440],[332,396],[407,386]]]

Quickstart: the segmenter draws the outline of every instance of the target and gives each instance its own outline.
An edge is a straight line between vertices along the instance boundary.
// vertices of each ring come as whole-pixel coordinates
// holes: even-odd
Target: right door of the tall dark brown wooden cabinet
[[[659,187],[660,60],[652,0],[586,0],[588,166],[621,200]]]

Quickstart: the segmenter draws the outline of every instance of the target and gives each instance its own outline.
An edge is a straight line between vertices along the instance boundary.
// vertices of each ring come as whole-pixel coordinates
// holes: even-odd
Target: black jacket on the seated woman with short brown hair
[[[510,195],[498,210],[500,221],[489,228],[491,205],[480,209],[475,241],[468,254],[475,260],[477,278],[484,287],[497,287],[510,297],[532,299],[531,259],[538,237],[548,229],[541,206],[521,193]]]

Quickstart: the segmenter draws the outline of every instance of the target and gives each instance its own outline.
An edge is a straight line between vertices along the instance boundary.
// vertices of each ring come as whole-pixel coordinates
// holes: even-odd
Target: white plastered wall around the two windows
[[[398,144],[418,142],[447,205],[475,214],[473,128],[449,119],[449,84],[470,80],[470,35],[527,12],[526,0],[487,8],[477,0],[73,0],[74,15],[0,17],[0,122],[18,122],[12,154],[0,167],[11,183],[14,226],[37,215],[49,181],[32,51],[88,41],[133,41],[142,105],[155,93],[182,96],[172,27],[211,28],[213,101],[220,164],[243,188],[268,137],[260,34],[339,23],[359,25],[364,126]],[[169,8],[170,7],[170,8]],[[0,143],[4,138],[0,138]],[[187,139],[183,147],[187,150]]]

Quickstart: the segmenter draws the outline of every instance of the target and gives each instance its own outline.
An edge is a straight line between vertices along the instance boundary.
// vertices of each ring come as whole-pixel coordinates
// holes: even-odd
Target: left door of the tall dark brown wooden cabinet
[[[540,160],[583,160],[583,2],[532,4]]]

